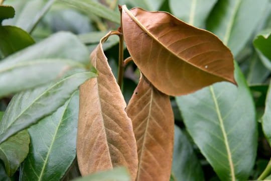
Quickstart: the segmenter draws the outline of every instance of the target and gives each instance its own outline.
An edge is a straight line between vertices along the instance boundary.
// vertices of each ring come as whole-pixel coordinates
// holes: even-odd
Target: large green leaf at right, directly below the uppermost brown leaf
[[[256,156],[255,109],[236,63],[235,80],[238,87],[220,82],[176,98],[188,132],[221,180],[245,180]]]

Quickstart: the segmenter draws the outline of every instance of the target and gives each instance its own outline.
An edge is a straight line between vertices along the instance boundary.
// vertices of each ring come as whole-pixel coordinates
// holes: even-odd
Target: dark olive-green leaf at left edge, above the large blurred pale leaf
[[[0,26],[0,51],[4,56],[8,56],[34,43],[33,38],[21,28]]]

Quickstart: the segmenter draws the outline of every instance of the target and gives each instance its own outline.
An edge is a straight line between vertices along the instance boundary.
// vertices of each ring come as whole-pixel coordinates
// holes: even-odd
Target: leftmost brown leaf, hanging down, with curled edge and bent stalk
[[[77,159],[86,175],[118,165],[137,175],[137,145],[132,123],[124,111],[126,104],[102,50],[103,37],[91,53],[98,77],[80,86]]]

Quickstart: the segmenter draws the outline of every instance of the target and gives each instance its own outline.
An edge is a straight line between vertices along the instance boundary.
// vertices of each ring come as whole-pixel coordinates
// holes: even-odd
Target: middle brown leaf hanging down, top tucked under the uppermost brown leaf
[[[126,108],[137,139],[137,180],[169,180],[172,165],[174,117],[169,96],[144,76]]]

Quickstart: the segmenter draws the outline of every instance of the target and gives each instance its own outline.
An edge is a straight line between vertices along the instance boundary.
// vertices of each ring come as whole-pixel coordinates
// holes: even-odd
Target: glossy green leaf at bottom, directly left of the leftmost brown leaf
[[[79,92],[54,114],[28,131],[30,153],[20,171],[20,180],[60,180],[76,156]]]

